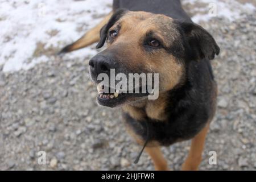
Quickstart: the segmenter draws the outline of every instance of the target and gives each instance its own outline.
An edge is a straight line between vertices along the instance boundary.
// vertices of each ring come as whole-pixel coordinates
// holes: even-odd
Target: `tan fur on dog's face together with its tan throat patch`
[[[159,24],[159,19],[163,22],[172,22],[172,18],[164,15],[129,12],[109,30],[112,31],[118,26],[121,27],[117,39],[113,42],[108,42],[108,51],[113,49],[123,65],[137,73],[141,71],[144,73],[161,73],[159,75],[160,95],[158,100],[144,100],[137,102],[139,104],[133,103],[133,105],[126,104],[123,106],[123,110],[126,113],[129,113],[131,117],[138,120],[147,116],[151,119],[164,121],[166,119],[163,113],[166,107],[166,92],[180,84],[184,77],[184,65],[181,64],[181,61],[176,60],[174,56],[170,55],[170,53],[163,49],[153,54],[144,51],[142,39],[148,31],[156,32],[163,41],[174,39],[172,36],[178,36],[176,33],[172,35],[162,34],[163,30],[159,27],[163,26],[163,24]],[[164,44],[169,45],[171,43],[164,42]]]

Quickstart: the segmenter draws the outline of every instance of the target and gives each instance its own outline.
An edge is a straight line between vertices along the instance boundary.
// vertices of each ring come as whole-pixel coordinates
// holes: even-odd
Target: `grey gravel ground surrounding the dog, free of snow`
[[[212,61],[218,109],[200,169],[255,170],[255,14],[201,25],[221,53]],[[1,170],[154,169],[146,153],[133,164],[141,146],[126,133],[119,109],[97,105],[88,59],[52,56],[52,61],[14,73],[0,67]],[[180,169],[188,150],[189,141],[163,148],[171,169]],[[38,164],[39,151],[46,151],[46,165]],[[209,151],[216,151],[216,165],[208,164]]]

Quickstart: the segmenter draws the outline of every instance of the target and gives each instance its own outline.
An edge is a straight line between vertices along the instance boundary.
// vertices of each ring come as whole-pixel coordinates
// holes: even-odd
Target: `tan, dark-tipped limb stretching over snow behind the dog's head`
[[[112,14],[113,13],[108,14],[96,27],[86,32],[76,42],[64,47],[60,51],[60,53],[75,51],[77,49],[84,48],[86,46],[89,46],[90,44],[98,42],[100,40],[100,30],[106,23],[108,23]]]

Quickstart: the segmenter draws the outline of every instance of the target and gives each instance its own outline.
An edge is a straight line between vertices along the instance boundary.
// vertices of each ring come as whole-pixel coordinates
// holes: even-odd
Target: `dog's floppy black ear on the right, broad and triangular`
[[[215,55],[220,53],[220,47],[203,27],[195,23],[180,23],[181,30],[185,36],[189,53],[188,59],[200,61],[201,59],[214,59]]]

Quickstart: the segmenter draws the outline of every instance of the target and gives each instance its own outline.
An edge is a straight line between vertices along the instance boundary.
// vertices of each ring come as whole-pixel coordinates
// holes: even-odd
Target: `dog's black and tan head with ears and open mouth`
[[[189,61],[213,59],[220,51],[212,36],[199,25],[142,11],[117,10],[102,27],[100,36],[96,48],[105,42],[107,48],[89,61],[93,81],[98,84],[101,73],[110,77],[110,69],[127,78],[129,73],[159,73],[159,93],[183,80]],[[114,94],[106,94],[102,90],[100,86],[98,102],[110,107],[146,98],[141,93],[118,94],[115,89]]]

